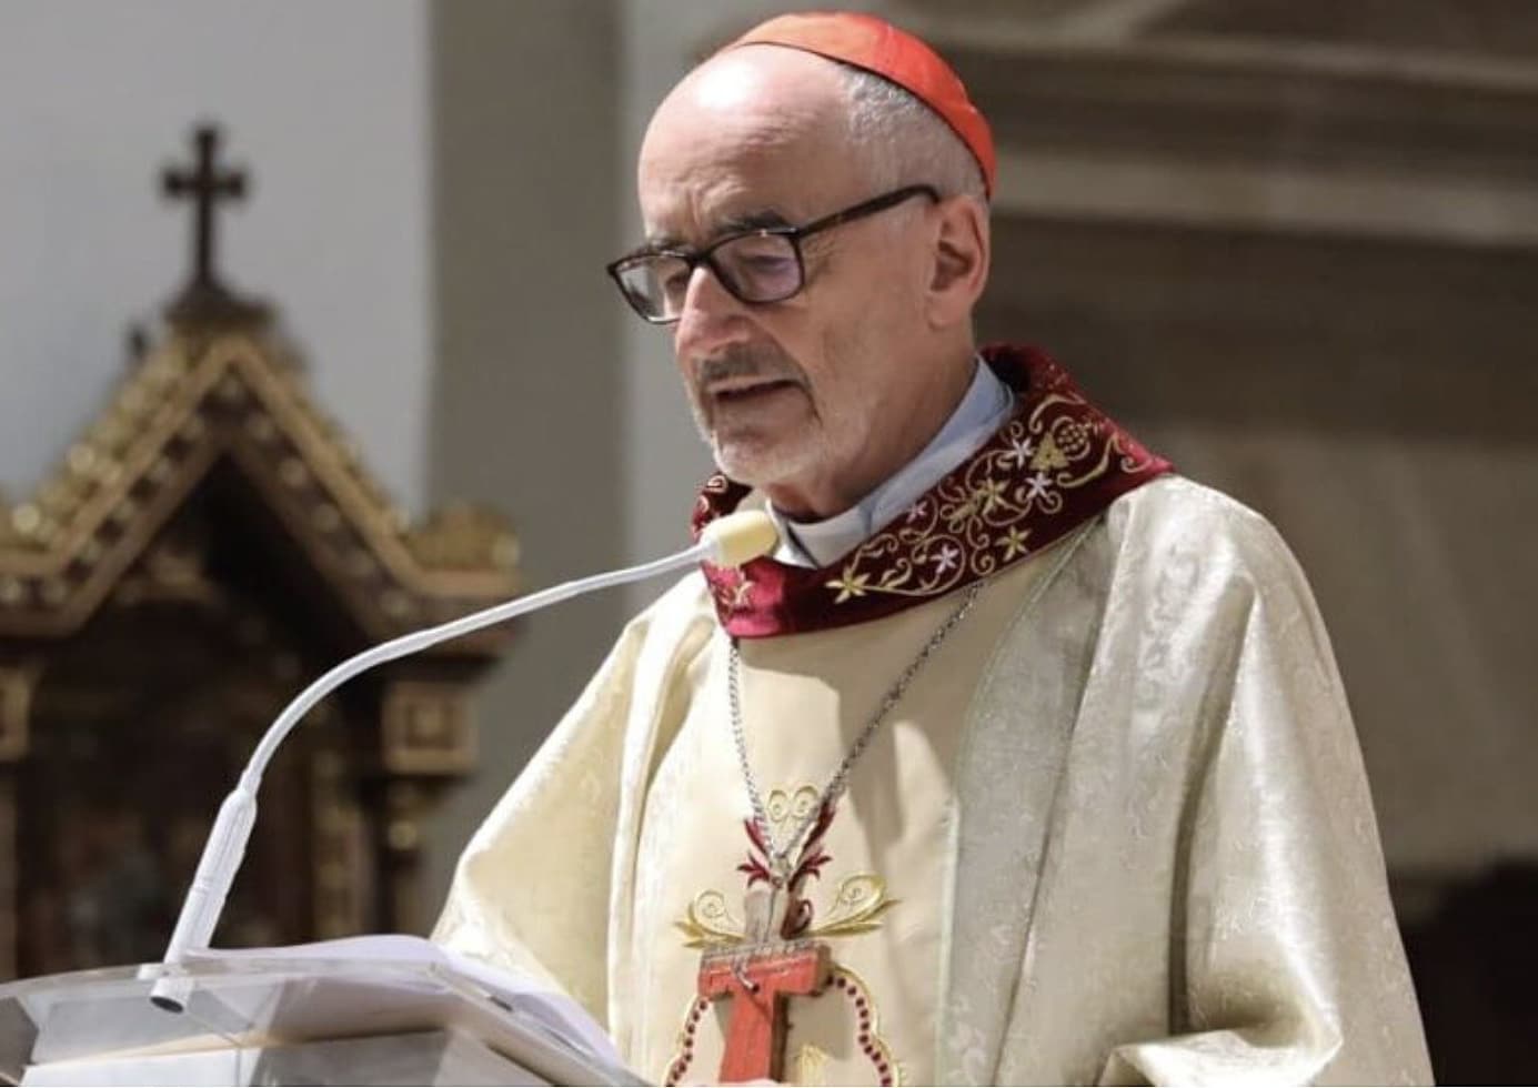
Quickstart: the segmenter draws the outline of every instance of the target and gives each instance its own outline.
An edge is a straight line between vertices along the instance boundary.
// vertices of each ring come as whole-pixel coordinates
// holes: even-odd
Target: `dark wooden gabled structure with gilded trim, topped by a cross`
[[[223,794],[314,676],[514,592],[497,516],[408,524],[266,307],[197,264],[34,496],[0,504],[0,977],[157,959]],[[200,187],[201,186],[201,187]],[[231,186],[225,186],[226,195]],[[484,632],[321,704],[266,776],[223,945],[420,930],[418,819],[474,761]]]

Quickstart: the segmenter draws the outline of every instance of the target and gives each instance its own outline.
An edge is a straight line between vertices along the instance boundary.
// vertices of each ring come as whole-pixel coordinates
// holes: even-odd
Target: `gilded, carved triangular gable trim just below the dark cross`
[[[346,598],[378,638],[515,589],[506,522],[454,506],[412,526],[283,350],[240,332],[180,335],[134,369],[51,479],[0,506],[0,635],[78,629],[225,455],[269,495],[314,566],[352,579]]]

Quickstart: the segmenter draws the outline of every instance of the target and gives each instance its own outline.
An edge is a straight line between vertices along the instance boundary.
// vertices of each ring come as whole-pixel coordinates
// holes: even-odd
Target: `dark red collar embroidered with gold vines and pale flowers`
[[[1169,472],[1046,352],[1000,344],[984,347],[983,360],[1015,390],[1015,413],[875,536],[815,570],[769,558],[740,569],[701,564],[729,635],[826,630],[932,601],[1030,558]],[[711,476],[695,503],[695,536],[749,490]]]

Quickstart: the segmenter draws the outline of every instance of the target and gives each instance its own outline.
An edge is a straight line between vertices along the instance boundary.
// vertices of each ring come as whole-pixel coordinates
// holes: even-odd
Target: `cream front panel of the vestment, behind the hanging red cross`
[[[930,1083],[941,888],[954,808],[958,724],[989,648],[1043,564],[1020,564],[983,593],[926,664],[849,779],[806,896],[807,936],[832,950],[835,982],[791,999],[794,1083]],[[952,595],[860,629],[743,642],[743,705],[754,773],[778,841],[815,807],[886,688],[955,610]],[[717,635],[717,639],[724,636]],[[721,1066],[731,1002],[697,996],[700,950],[743,936],[749,813],[726,713],[726,653],[701,658],[700,698],[663,758],[641,824],[635,887],[637,1065],[704,1083]],[[701,811],[735,819],[700,819]],[[698,1014],[695,1014],[698,1007]]]

